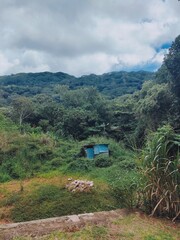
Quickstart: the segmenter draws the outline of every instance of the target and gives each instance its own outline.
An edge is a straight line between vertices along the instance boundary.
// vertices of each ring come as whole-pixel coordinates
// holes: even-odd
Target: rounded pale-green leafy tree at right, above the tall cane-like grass
[[[167,84],[145,83],[139,93],[136,116],[145,122],[148,129],[155,131],[162,122],[168,122],[172,94]]]

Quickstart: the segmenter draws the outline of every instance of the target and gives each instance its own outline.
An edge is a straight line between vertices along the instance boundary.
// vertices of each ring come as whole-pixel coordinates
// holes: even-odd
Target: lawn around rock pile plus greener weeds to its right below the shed
[[[125,165],[126,166],[126,165]],[[68,178],[92,180],[91,193],[70,193],[65,189]],[[135,169],[118,163],[90,172],[67,172],[58,169],[36,177],[0,184],[1,221],[28,221],[67,214],[133,207],[139,177]]]

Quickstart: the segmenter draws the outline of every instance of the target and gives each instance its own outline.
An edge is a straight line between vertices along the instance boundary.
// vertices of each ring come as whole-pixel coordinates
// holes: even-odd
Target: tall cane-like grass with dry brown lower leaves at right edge
[[[146,210],[174,220],[180,215],[180,135],[164,126],[149,137],[144,152]]]

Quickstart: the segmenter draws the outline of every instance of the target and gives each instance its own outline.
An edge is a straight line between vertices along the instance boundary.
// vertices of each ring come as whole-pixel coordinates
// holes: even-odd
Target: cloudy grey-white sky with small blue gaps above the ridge
[[[0,75],[156,71],[179,34],[178,0],[0,0]]]

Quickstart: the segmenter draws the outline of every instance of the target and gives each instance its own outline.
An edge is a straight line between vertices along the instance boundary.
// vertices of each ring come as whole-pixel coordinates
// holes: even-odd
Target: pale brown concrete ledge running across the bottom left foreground
[[[0,240],[10,240],[16,236],[38,237],[53,231],[74,231],[85,224],[107,224],[109,220],[124,218],[129,214],[126,209],[70,215],[41,219],[29,222],[1,224]]]

